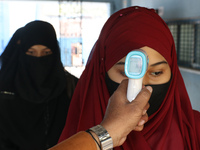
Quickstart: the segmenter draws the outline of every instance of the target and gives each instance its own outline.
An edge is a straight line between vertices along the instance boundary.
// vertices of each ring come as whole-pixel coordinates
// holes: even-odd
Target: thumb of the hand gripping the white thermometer
[[[151,97],[152,90],[150,86],[143,88],[132,103],[138,103],[138,106],[144,109]]]

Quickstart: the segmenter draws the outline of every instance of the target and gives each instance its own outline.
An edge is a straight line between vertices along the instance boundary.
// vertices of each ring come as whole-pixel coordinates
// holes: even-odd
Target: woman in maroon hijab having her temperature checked
[[[143,80],[153,87],[149,120],[115,149],[200,149],[200,113],[191,107],[173,37],[155,10],[142,7],[122,9],[105,23],[75,89],[59,141],[102,121],[110,95],[126,78],[125,56],[139,48],[149,57]]]

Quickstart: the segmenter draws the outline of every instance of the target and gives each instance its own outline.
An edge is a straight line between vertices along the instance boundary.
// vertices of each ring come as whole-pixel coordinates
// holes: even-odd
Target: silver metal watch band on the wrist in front
[[[110,137],[109,133],[103,126],[97,125],[90,128],[90,130],[93,131],[98,136],[102,150],[112,150],[113,148],[112,138]]]

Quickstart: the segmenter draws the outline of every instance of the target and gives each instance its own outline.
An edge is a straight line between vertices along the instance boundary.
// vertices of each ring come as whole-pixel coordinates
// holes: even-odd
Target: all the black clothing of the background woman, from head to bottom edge
[[[0,149],[44,150],[57,144],[78,79],[64,70],[51,24],[33,21],[17,32],[1,55]],[[52,54],[26,55],[36,44]]]

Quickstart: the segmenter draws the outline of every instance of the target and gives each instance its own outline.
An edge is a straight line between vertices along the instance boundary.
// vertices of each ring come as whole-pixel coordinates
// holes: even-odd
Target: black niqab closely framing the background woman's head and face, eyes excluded
[[[15,87],[21,98],[41,103],[60,95],[65,84],[65,76],[54,28],[45,22],[35,21],[24,27],[21,40],[18,71]],[[44,45],[52,55],[32,57],[26,55],[33,45]]]

